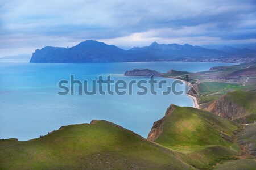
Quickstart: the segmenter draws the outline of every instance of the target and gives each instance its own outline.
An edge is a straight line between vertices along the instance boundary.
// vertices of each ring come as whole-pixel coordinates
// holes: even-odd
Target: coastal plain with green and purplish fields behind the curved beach
[[[192,74],[191,77],[199,79],[196,89],[200,103],[207,103],[235,90],[255,90],[256,63],[214,67],[210,71]]]

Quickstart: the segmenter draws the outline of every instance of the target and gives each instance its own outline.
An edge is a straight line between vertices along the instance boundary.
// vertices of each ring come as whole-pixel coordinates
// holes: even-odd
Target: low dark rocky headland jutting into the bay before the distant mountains
[[[149,69],[134,69],[131,71],[126,71],[125,72],[125,76],[163,76],[162,73],[160,73],[159,71],[155,71],[155,70],[149,70]]]

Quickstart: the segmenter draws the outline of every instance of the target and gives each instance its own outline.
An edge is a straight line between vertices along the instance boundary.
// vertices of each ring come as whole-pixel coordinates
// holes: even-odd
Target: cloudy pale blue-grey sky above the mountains
[[[256,1],[0,1],[0,56],[88,39],[121,48],[255,44]]]

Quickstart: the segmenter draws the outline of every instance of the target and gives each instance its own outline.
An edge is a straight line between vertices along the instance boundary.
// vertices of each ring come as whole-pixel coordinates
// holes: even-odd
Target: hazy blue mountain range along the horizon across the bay
[[[33,63],[91,63],[91,62],[135,62],[175,61],[180,58],[224,58],[253,56],[256,51],[225,46],[221,50],[208,49],[189,44],[158,44],[123,50],[114,45],[87,40],[71,48],[46,46],[36,49],[30,62]]]

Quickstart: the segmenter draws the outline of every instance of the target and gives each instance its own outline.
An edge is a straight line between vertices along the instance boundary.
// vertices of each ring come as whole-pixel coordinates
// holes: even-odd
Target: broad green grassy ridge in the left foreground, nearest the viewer
[[[0,141],[0,169],[189,169],[175,152],[105,121]]]

